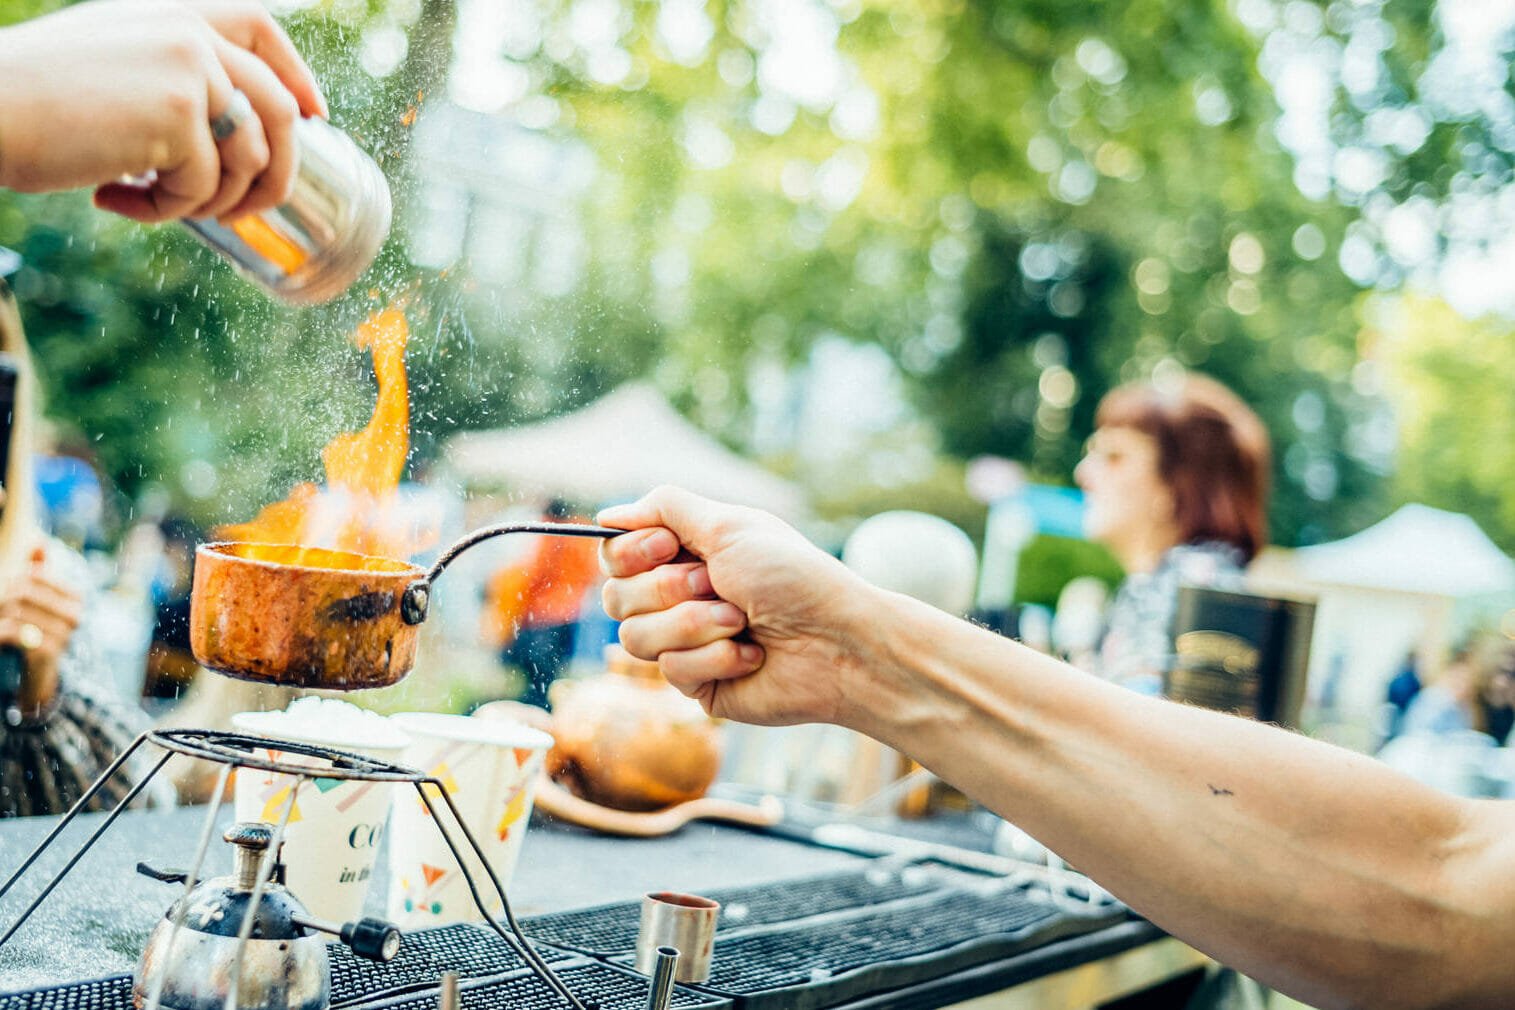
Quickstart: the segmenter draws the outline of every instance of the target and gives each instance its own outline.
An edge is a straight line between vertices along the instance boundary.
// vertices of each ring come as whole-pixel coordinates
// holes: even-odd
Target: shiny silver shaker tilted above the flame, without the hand
[[[295,124],[300,167],[288,203],[227,224],[185,227],[239,274],[283,301],[330,301],[368,270],[389,235],[389,183],[379,165],[326,120]]]

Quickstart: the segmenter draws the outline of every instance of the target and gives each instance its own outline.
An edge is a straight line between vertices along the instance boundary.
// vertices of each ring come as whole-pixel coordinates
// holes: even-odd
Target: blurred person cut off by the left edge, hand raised
[[[0,350],[14,391],[0,412],[0,816],[62,813],[147,728],[147,718],[115,697],[89,641],[83,559],[38,522],[30,441],[36,380],[3,280]],[[141,771],[117,775],[91,806],[114,806]],[[145,803],[165,801],[167,783],[145,793]]]

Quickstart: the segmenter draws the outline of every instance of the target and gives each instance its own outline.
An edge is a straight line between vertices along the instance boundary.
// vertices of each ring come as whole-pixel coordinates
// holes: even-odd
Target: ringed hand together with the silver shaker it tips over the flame
[[[389,232],[377,165],[324,121],[314,74],[256,0],[76,5],[0,27],[0,186],[94,186],[136,221],[192,215],[274,297],[335,298]]]

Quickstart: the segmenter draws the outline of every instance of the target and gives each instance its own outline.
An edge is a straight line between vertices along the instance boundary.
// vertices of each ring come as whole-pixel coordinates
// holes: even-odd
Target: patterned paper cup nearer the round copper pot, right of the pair
[[[515,722],[459,715],[412,712],[394,721],[411,736],[401,763],[442,783],[500,884],[509,887],[532,818],[536,774],[553,737]],[[468,860],[485,909],[498,918],[500,896],[447,804],[433,795],[432,806]],[[389,828],[389,919],[401,928],[418,928],[480,918],[426,804],[414,787],[397,787]]]

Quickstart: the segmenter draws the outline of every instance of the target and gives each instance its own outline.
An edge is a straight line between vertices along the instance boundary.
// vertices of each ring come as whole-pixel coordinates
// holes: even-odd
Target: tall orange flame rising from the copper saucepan
[[[435,531],[418,533],[394,507],[411,451],[408,338],[405,313],[394,306],[373,313],[353,333],[353,344],[373,354],[379,398],[361,432],[338,435],[321,450],[326,488],[295,485],[283,501],[265,506],[250,522],[218,528],[217,536],[386,557],[409,557],[430,545]]]

